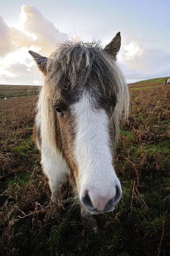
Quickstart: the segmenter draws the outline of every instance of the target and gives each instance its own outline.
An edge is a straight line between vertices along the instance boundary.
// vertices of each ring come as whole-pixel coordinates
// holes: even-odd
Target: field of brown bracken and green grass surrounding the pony
[[[130,90],[115,160],[123,197],[114,212],[96,215],[97,234],[69,200],[69,183],[59,204],[50,202],[32,139],[36,96],[0,99],[1,255],[170,254],[170,91],[163,83],[154,87],[164,80]]]

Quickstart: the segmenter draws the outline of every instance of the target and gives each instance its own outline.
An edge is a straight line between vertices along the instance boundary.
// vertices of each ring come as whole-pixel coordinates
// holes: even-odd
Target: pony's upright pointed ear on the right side
[[[107,46],[105,46],[104,51],[106,53],[109,53],[114,59],[116,60],[116,55],[118,54],[118,51],[120,50],[121,45],[121,36],[120,32],[118,32],[115,37],[111,40]]]

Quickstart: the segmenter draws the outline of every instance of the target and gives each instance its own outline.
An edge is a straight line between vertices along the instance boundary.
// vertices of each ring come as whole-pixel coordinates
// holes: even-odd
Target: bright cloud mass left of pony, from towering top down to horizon
[[[19,29],[10,28],[0,17],[0,82],[41,83],[41,75],[28,50],[48,56],[69,35],[61,33],[34,6],[21,6],[19,24]]]

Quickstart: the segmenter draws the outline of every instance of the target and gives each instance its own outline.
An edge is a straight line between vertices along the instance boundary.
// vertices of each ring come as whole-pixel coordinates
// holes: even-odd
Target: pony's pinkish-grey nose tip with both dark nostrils
[[[113,197],[109,199],[108,196],[98,196],[96,199],[93,199],[93,196],[90,195],[90,191],[85,191],[85,196],[81,196],[81,203],[89,212],[92,214],[100,214],[101,212],[111,212],[114,210],[116,203],[120,201],[122,196],[122,190],[119,185],[115,187],[116,193]]]

